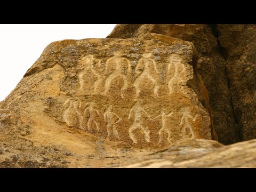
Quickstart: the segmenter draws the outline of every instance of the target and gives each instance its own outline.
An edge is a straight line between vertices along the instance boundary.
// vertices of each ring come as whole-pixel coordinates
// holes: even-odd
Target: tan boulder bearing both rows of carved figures
[[[53,42],[0,103],[0,166],[102,167],[216,139],[196,69],[193,44],[165,35]]]

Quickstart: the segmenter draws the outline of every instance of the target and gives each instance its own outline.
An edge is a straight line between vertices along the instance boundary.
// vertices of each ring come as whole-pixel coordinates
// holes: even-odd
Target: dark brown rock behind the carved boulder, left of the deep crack
[[[218,25],[218,28],[219,26],[222,25]],[[226,25],[226,28],[229,29],[229,26]],[[218,140],[223,144],[242,141],[241,129],[237,126],[236,111],[234,112],[236,109],[233,108],[233,99],[230,95],[226,53],[220,45],[219,41],[222,42],[222,38],[218,39],[217,26],[200,24],[117,25],[108,37],[135,38],[148,32],[179,38],[195,45],[198,53],[197,71],[202,76],[205,87],[209,91],[213,127],[218,135]],[[229,38],[223,38],[229,44],[232,45],[237,41],[239,41],[237,43],[240,43],[239,37],[235,38],[229,31],[227,31],[227,34],[230,35]],[[253,39],[253,36],[247,38],[246,41],[250,41],[249,39]],[[241,42],[240,44],[243,45],[244,43]],[[230,50],[234,50],[233,47],[230,47]],[[236,47],[236,50],[239,52],[239,47]],[[236,70],[236,74],[240,74],[240,71]],[[243,88],[241,87],[240,90],[242,91]],[[237,94],[237,92],[234,94]],[[256,138],[256,135],[254,135],[254,138]]]

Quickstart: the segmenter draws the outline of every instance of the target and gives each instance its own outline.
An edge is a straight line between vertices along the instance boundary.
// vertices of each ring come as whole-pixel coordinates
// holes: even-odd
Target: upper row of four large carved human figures
[[[141,92],[140,84],[143,79],[148,78],[154,84],[154,94],[158,97],[158,89],[161,84],[160,72],[157,70],[156,62],[153,59],[151,53],[144,53],[142,58],[139,59],[138,64],[135,67],[135,80],[132,81],[132,78],[127,78],[128,74],[131,72],[131,62],[122,57],[123,54],[116,53],[114,57],[109,58],[106,61],[105,72],[102,75],[101,60],[95,59],[93,55],[87,55],[81,60],[82,67],[78,69],[78,78],[79,78],[79,90],[83,90],[86,84],[84,83],[84,78],[88,77],[88,71],[91,70],[91,73],[95,75],[97,80],[94,82],[94,92],[99,91],[99,86],[105,81],[105,89],[103,94],[107,94],[110,89],[111,82],[116,77],[121,77],[123,79],[124,85],[121,88],[121,97],[123,98],[123,91],[127,89],[129,84],[133,84],[136,90],[136,97],[139,97]],[[183,86],[186,83],[186,79],[182,76],[183,72],[186,70],[185,65],[182,62],[182,59],[178,55],[170,56],[170,63],[167,67],[167,79],[169,93],[177,92],[178,90],[183,91]],[[106,76],[106,78],[104,77]]]

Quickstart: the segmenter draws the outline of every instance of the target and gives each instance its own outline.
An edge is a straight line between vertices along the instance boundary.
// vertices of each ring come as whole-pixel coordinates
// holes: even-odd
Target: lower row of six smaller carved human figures
[[[87,118],[87,129],[88,131],[92,130],[93,124],[97,128],[98,131],[100,131],[99,124],[96,120],[97,115],[100,116],[100,113],[97,109],[95,109],[95,103],[94,102],[87,102],[85,104],[86,108],[84,109],[83,113],[79,111],[79,108],[82,106],[82,102],[79,99],[68,99],[65,103],[64,106],[66,106],[66,110],[63,112],[63,119],[67,123],[68,126],[73,126],[73,123],[70,122],[70,120],[74,120],[74,114],[79,119],[79,127],[81,129],[84,129],[83,123],[84,123],[84,115],[86,113],[89,114]],[[111,105],[105,105],[107,107],[103,113],[103,117],[105,119],[106,123],[106,129],[107,129],[107,137],[109,138],[111,134],[113,134],[116,138],[119,138],[118,131],[116,129],[116,126],[119,122],[122,121],[122,118],[119,117],[116,113],[112,111],[113,106]],[[73,114],[72,114],[73,113]],[[159,142],[163,140],[163,133],[166,132],[168,134],[167,140],[170,142],[171,141],[171,131],[170,129],[166,126],[166,121],[168,117],[173,115],[173,111],[169,114],[165,114],[164,109],[161,110],[158,116],[151,118],[148,113],[141,107],[141,100],[138,100],[134,103],[134,105],[131,107],[128,119],[130,119],[133,115],[133,123],[129,127],[129,135],[130,138],[134,143],[137,143],[137,139],[135,138],[134,131],[137,129],[141,129],[144,132],[145,135],[145,140],[147,142],[150,142],[150,132],[149,128],[147,126],[144,126],[143,124],[145,123],[145,119],[142,118],[143,115],[146,115],[151,121],[155,121],[157,118],[160,118],[162,121],[162,127],[158,131],[159,134]],[[190,111],[188,107],[181,108],[181,133],[182,135],[186,135],[186,129],[189,129],[190,134],[191,134],[191,139],[194,138],[194,132],[193,132],[193,127],[189,123],[189,119],[192,119],[192,121],[195,121],[195,119],[198,117],[198,115],[195,115],[194,117],[190,115]],[[158,143],[159,143],[158,142]]]

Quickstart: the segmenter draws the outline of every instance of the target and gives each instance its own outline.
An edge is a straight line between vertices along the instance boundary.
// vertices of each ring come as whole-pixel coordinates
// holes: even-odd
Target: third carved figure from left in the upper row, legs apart
[[[158,96],[157,91],[159,89],[158,86],[158,70],[156,68],[156,62],[152,59],[151,53],[144,53],[142,58],[138,61],[137,66],[135,67],[135,75],[136,79],[133,83],[136,90],[136,97],[139,97],[140,94],[140,83],[143,79],[148,78],[153,84],[154,89],[153,92]]]

